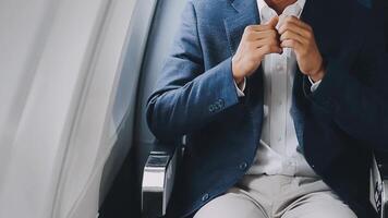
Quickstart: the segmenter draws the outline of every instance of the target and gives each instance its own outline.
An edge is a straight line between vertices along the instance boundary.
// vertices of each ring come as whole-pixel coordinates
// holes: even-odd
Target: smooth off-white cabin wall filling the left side
[[[97,217],[136,2],[0,1],[1,218]]]

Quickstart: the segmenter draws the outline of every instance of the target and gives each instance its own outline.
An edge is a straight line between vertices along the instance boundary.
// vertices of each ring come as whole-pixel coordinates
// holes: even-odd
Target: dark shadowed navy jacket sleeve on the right
[[[340,57],[328,59],[319,87],[311,93],[305,78],[304,93],[350,136],[388,150],[388,59],[380,21],[371,19],[368,26],[362,25],[360,31],[366,34],[354,64],[345,66]]]

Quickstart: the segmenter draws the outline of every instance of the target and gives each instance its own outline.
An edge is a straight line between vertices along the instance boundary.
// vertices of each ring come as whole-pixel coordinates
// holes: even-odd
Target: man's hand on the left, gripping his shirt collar
[[[265,25],[246,26],[232,58],[233,77],[241,84],[245,76],[253,74],[262,63],[265,55],[281,53],[279,34],[276,29],[279,17],[272,17]]]

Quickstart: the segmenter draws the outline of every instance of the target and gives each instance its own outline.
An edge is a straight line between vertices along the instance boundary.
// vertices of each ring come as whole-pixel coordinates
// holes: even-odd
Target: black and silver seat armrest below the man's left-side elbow
[[[180,146],[156,143],[143,171],[142,215],[154,218],[166,215],[170,199]]]

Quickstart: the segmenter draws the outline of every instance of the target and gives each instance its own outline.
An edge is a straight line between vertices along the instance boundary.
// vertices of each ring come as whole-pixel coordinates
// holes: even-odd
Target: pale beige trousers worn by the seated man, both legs
[[[245,175],[194,218],[356,218],[318,178]]]

